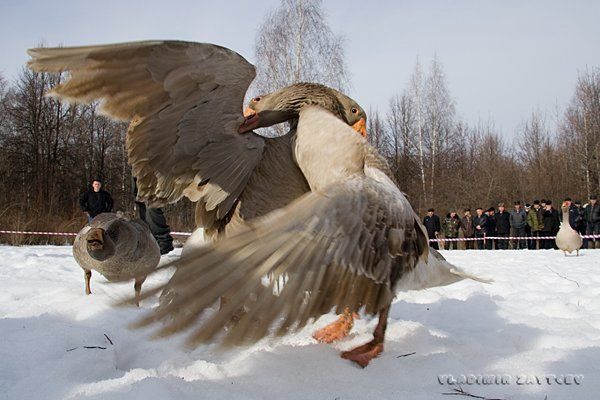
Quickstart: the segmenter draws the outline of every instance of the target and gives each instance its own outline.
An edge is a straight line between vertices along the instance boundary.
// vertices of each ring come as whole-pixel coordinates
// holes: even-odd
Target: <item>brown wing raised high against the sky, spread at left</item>
[[[68,71],[51,95],[101,101],[131,121],[129,163],[139,197],[154,205],[183,195],[223,218],[260,161],[264,140],[239,135],[254,66],[212,44],[147,41],[29,50],[36,71]]]

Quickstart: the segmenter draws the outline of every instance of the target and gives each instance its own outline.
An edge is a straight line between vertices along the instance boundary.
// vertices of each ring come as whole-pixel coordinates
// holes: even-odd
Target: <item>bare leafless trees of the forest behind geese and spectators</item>
[[[351,87],[343,38],[328,27],[320,1],[283,0],[258,32],[250,93],[299,81]],[[116,209],[133,211],[127,125],[99,115],[97,105],[44,96],[66,78],[25,68],[14,81],[0,76],[0,229],[77,232],[85,223],[77,200],[94,178],[102,179]],[[535,198],[557,204],[565,196],[585,202],[598,194],[600,68],[580,71],[566,109],[552,116],[532,111],[512,140],[491,119],[459,118],[448,79],[436,57],[427,65],[417,61],[387,110],[367,110],[369,141],[419,213]],[[193,228],[188,200],[165,212],[172,228]],[[7,241],[49,240],[0,235]]]

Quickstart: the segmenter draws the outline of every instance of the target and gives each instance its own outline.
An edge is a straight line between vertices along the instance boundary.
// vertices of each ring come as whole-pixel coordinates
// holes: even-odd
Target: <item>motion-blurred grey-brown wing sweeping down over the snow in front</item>
[[[364,306],[375,313],[389,304],[395,283],[426,246],[401,192],[357,176],[308,193],[178,260],[168,285],[179,295],[140,325],[164,320],[158,334],[172,334],[194,324],[220,296],[227,298],[225,307],[195,328],[190,344],[215,336],[230,344],[283,334],[332,307]],[[266,286],[265,276],[272,278]],[[287,281],[274,294],[283,276]],[[242,305],[243,315],[230,324]]]

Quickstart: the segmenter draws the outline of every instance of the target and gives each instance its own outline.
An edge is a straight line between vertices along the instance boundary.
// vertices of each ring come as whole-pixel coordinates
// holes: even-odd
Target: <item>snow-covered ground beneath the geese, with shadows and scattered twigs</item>
[[[335,319],[330,314],[280,340],[190,352],[181,337],[149,341],[148,332],[126,328],[156,304],[114,308],[133,284],[94,274],[86,296],[70,247],[0,246],[0,398],[444,399],[462,398],[443,394],[458,387],[448,381],[481,375],[508,383],[463,390],[495,399],[598,398],[600,250],[444,255],[495,282],[400,293],[385,352],[363,370],[339,352],[368,341],[374,319],[357,321],[335,346],[310,336]]]

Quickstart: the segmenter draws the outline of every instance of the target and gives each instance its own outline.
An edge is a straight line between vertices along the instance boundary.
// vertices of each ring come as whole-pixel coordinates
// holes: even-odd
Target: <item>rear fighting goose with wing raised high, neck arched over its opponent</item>
[[[130,123],[126,146],[138,198],[153,207],[184,196],[195,201],[196,227],[203,228],[207,240],[232,234],[245,221],[310,191],[293,159],[294,118],[273,115],[290,122],[281,137],[239,134],[242,122],[246,127],[256,122],[253,107],[261,96],[242,115],[255,68],[232,50],[208,43],[143,41],[36,48],[28,54],[32,70],[70,73],[50,96],[75,103],[100,100],[101,112]],[[270,99],[319,104],[366,136],[364,109],[332,88],[298,83]],[[266,113],[261,121],[279,122]],[[165,290],[160,304],[175,295]]]

